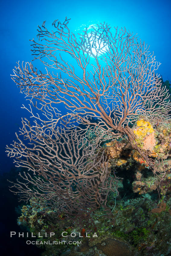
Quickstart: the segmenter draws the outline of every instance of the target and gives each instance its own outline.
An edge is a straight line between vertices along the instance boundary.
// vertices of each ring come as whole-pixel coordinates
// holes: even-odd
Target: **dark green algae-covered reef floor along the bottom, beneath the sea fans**
[[[114,204],[112,197],[108,203]],[[54,218],[54,213],[48,212],[47,209],[43,209],[42,215],[42,208],[34,198],[30,204],[32,206],[23,206],[22,217],[24,214],[25,220],[21,221],[19,217],[18,224],[27,226],[35,235],[40,232],[41,236],[45,236],[47,233],[47,237],[36,238],[37,241],[42,242],[39,246],[45,249],[43,256],[113,256],[114,253],[121,256],[149,256],[149,254],[160,256],[167,255],[171,250],[169,243],[171,197],[167,198],[167,202],[162,199],[159,204],[156,204],[148,194],[140,195],[135,199],[121,198],[117,200],[115,209],[109,216],[99,209],[91,215],[91,221],[82,222],[74,217],[68,218],[62,215]],[[36,211],[37,219],[30,222],[31,214],[35,215],[33,211]],[[43,223],[39,223],[40,219]],[[54,232],[55,235],[50,237],[49,232]],[[63,238],[62,232],[67,232],[67,237]],[[95,237],[93,237],[94,232],[97,234]],[[73,233],[74,237],[71,236]],[[51,243],[56,241],[58,244],[43,245],[47,239]],[[64,240],[65,245],[62,244]],[[72,244],[69,245],[69,241]],[[73,244],[74,241],[79,244]],[[59,242],[61,242],[60,246]]]

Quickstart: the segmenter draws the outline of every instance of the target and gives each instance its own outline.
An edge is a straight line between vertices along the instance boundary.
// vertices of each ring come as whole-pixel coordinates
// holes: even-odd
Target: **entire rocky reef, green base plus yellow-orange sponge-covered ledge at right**
[[[142,155],[133,148],[134,143],[131,144],[126,138],[111,141],[108,139],[103,144],[106,159],[104,166],[108,165],[111,176],[116,175],[116,172],[120,175],[120,180],[113,184],[117,186],[119,196],[117,197],[117,192],[110,192],[107,198],[107,206],[112,210],[110,215],[100,208],[91,212],[88,218],[84,214],[84,220],[79,220],[78,217],[76,221],[74,217],[65,215],[65,212],[59,214],[59,211],[52,210],[46,199],[31,198],[30,204],[21,208],[18,225],[42,236],[36,240],[44,248],[43,256],[113,256],[113,248],[116,255],[148,256],[150,253],[152,256],[159,256],[163,253],[163,243],[167,244],[163,255],[167,255],[171,250],[168,243],[171,223],[170,129],[169,121],[153,125],[142,117],[132,128],[135,145],[141,147],[149,159],[163,163],[159,165],[157,177]],[[92,143],[96,136],[91,132],[89,138]],[[151,138],[153,143],[150,142],[150,145]],[[99,151],[98,154],[102,152]],[[126,179],[130,180],[127,185]],[[131,199],[123,194],[126,188],[132,191],[129,192]],[[161,197],[159,202],[153,198],[157,198],[158,194]],[[49,232],[55,233],[55,236],[43,237],[43,234]],[[62,232],[75,233],[76,236],[66,237],[66,243],[60,247],[43,244],[47,239],[50,242],[62,243]],[[93,237],[94,232],[97,237]],[[79,244],[69,245],[69,241],[77,241]]]

